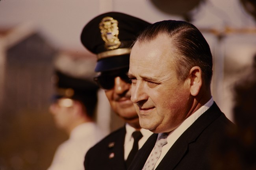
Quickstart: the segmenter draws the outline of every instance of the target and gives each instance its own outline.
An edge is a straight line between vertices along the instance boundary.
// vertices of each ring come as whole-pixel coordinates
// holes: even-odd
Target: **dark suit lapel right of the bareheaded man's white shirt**
[[[208,127],[211,122],[217,119],[222,114],[219,107],[214,102],[213,105],[202,114],[173,144],[170,150],[166,153],[156,170],[169,169],[172,170],[180,162],[187,152],[188,145]]]

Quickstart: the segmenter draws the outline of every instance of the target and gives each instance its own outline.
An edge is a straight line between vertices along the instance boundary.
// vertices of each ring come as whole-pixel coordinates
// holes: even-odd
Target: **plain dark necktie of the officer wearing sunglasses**
[[[139,140],[143,137],[141,134],[141,131],[134,131],[132,133],[132,137],[134,138],[134,145],[132,146],[132,150],[129,153],[127,160],[126,160],[126,167],[128,168],[130,164],[132,163],[132,160],[134,159],[135,154],[139,150],[139,145],[138,142]]]

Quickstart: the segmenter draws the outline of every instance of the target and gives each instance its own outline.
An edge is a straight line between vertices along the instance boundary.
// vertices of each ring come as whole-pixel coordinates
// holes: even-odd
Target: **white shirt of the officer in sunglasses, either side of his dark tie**
[[[132,146],[134,144],[134,138],[132,137],[132,133],[135,131],[135,128],[130,126],[126,123],[126,135],[124,139],[124,160],[127,159],[129,153],[132,150]],[[153,133],[147,129],[140,129],[143,137],[139,140],[139,149],[143,146],[143,144],[147,141],[147,139],[152,135]]]

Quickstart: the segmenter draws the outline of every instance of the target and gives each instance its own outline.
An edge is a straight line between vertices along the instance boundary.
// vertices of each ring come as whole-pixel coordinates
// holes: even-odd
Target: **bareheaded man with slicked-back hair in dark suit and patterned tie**
[[[214,137],[233,126],[211,96],[212,55],[200,31],[166,20],[146,28],[130,55],[131,100],[156,133],[130,170],[208,170]]]

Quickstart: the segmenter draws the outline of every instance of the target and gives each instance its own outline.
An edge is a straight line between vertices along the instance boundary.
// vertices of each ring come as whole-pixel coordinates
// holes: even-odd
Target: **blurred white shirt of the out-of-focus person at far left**
[[[55,152],[48,170],[84,170],[85,153],[104,137],[95,123],[83,123],[75,127],[68,140]]]

